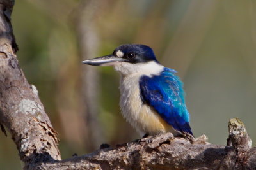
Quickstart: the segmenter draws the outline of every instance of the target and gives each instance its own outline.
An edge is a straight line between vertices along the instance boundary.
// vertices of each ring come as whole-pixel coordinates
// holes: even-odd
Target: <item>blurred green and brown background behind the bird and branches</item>
[[[120,114],[118,73],[81,64],[124,43],[151,46],[178,71],[195,136],[225,145],[239,117],[255,146],[255,18],[253,0],[19,0],[12,24],[66,159],[139,138]],[[0,134],[0,169],[21,169],[10,135]]]

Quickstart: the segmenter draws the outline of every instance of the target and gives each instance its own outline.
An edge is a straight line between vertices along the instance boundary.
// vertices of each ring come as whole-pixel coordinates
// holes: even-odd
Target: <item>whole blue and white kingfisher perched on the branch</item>
[[[191,136],[183,83],[174,69],[161,65],[147,45],[125,44],[112,54],[84,60],[92,66],[113,66],[120,73],[120,108],[141,135],[172,132]]]

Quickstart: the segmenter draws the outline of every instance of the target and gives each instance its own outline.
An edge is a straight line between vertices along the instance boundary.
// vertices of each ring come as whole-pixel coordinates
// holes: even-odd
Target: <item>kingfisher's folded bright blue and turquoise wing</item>
[[[152,106],[176,131],[193,136],[182,89],[183,83],[175,73],[173,69],[164,68],[159,76],[141,76],[141,99]]]

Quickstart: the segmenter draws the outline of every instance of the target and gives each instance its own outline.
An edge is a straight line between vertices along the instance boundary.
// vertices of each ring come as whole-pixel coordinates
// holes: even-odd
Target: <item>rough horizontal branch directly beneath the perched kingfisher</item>
[[[141,139],[140,142],[105,148],[81,157],[72,157],[52,164],[40,164],[38,169],[254,169],[256,148],[243,155],[230,154],[232,146],[212,145],[205,136],[190,143],[172,134]],[[232,164],[229,160],[243,160]],[[246,161],[245,161],[246,160]]]

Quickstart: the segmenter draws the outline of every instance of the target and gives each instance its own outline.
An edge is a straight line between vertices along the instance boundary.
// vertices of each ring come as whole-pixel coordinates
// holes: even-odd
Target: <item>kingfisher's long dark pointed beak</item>
[[[97,57],[90,60],[84,60],[82,63],[92,65],[92,66],[112,66],[116,62],[125,62],[125,61],[128,61],[128,60],[121,57],[115,57],[114,55],[106,55],[103,57]]]

